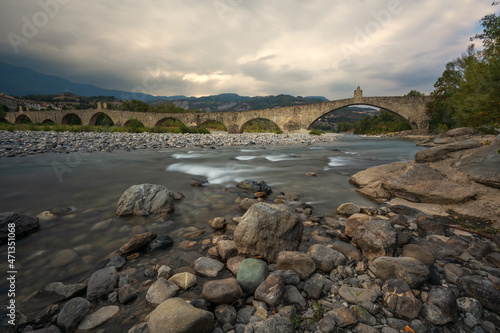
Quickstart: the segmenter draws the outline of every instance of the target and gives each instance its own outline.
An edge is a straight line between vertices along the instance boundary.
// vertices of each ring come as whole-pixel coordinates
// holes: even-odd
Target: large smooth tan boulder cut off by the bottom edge
[[[197,309],[181,298],[171,298],[151,312],[149,333],[205,333],[212,330],[214,315]]]

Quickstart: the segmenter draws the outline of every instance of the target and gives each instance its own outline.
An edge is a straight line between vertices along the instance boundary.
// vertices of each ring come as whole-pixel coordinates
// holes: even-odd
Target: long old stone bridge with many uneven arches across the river
[[[67,124],[71,115],[77,115],[83,125],[95,125],[101,114],[108,115],[115,126],[127,126],[130,119],[141,121],[146,127],[160,125],[166,119],[177,119],[190,127],[199,127],[208,121],[224,124],[229,133],[242,133],[246,125],[255,119],[267,119],[276,123],[285,133],[304,133],[319,118],[327,113],[351,105],[370,105],[387,109],[404,118],[414,129],[428,129],[429,118],[426,115],[426,104],[431,97],[363,97],[359,89],[353,98],[330,102],[277,107],[241,112],[209,112],[209,113],[151,113],[116,111],[107,109],[65,110],[65,111],[19,111],[8,112],[7,121],[21,123],[26,117],[33,123],[47,120],[56,124]]]

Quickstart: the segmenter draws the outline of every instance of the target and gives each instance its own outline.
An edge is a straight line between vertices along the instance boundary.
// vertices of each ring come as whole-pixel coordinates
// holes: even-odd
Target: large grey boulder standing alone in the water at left
[[[116,214],[147,216],[167,215],[174,211],[174,194],[162,185],[130,186],[118,200]]]

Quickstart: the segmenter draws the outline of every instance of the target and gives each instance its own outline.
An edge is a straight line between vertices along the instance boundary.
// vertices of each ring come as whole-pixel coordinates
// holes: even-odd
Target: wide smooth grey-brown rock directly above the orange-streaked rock
[[[417,288],[430,277],[429,268],[410,257],[380,257],[373,261],[375,274],[382,280],[400,279]]]

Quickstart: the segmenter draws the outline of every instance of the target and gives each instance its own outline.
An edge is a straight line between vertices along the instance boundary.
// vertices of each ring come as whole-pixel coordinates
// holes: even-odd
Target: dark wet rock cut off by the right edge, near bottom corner
[[[458,280],[458,285],[465,293],[481,302],[481,305],[495,313],[500,313],[500,291],[489,284],[478,281],[474,276],[465,276]]]

